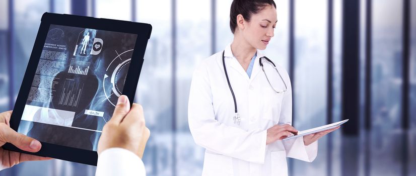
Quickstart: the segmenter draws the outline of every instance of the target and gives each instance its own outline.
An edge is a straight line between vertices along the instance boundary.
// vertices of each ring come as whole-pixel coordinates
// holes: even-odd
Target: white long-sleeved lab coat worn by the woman
[[[251,77],[225,48],[225,64],[237,101],[240,125],[234,124],[234,102],[225,77],[222,51],[205,59],[193,73],[189,93],[188,121],[195,143],[205,148],[202,175],[287,175],[286,157],[312,162],[317,142],[308,146],[303,138],[278,140],[266,145],[267,129],[292,124],[292,87],[287,71],[276,67],[288,89],[275,93],[259,65],[264,56],[257,50]],[[279,74],[264,59],[264,69],[276,90],[283,90]]]

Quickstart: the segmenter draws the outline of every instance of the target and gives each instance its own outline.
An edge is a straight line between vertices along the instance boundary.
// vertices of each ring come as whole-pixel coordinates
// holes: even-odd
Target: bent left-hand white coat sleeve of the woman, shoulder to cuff
[[[192,76],[188,122],[192,137],[199,146],[225,156],[264,163],[267,131],[245,131],[215,119],[210,78],[205,66],[198,66]]]

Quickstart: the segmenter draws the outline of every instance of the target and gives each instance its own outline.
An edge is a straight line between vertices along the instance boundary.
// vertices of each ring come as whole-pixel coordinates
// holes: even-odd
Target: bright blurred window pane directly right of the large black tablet
[[[137,21],[152,24],[135,100],[152,132],[144,162],[147,175],[173,175],[172,1],[137,1]],[[163,4],[163,6],[160,6]],[[155,11],[149,7],[158,7]]]

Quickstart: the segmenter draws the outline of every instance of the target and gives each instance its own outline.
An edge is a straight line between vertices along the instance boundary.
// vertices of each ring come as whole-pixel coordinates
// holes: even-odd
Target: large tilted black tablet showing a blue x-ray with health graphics
[[[150,24],[45,13],[10,126],[42,143],[25,152],[97,164],[97,144],[117,99],[134,99]]]

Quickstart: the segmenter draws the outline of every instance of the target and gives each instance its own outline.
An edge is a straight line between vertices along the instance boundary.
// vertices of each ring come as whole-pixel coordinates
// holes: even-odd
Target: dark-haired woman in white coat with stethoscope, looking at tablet
[[[286,157],[312,162],[327,130],[290,140],[292,87],[287,71],[264,50],[277,23],[272,0],[234,0],[231,45],[196,68],[189,128],[204,147],[202,175],[287,175]],[[274,66],[275,65],[275,66]]]

